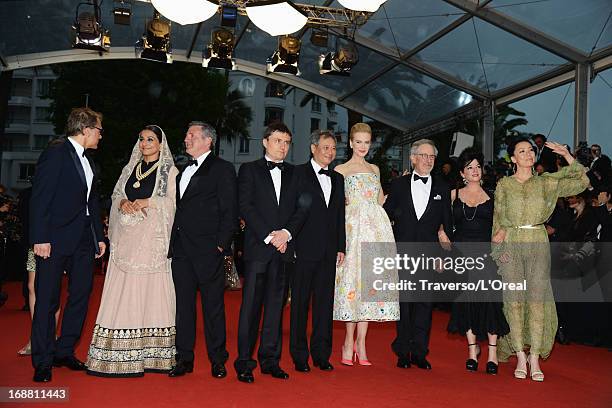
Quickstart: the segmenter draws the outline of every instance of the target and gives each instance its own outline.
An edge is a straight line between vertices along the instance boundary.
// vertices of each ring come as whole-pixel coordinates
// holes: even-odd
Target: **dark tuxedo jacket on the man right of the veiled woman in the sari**
[[[238,230],[236,171],[210,153],[193,174],[181,197],[183,168],[176,176],[176,214],[168,257],[177,240],[189,258],[206,262],[218,255],[217,247],[230,248]]]

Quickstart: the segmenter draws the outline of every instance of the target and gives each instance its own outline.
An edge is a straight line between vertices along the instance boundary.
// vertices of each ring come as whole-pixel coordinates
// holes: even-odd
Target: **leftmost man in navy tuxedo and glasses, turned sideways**
[[[36,166],[30,199],[30,243],[36,255],[36,308],[32,319],[34,381],[51,380],[51,366],[85,370],[74,356],[93,286],[94,257],[104,254],[104,234],[94,165],[85,155],[102,139],[102,115],[73,109],[67,139],[45,150]],[[62,274],[69,277],[62,333],[55,340]]]

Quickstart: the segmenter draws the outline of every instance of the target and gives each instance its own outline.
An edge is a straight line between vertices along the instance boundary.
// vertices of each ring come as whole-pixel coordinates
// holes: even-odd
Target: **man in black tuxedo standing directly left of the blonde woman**
[[[344,262],[344,178],[329,165],[336,158],[336,139],[329,131],[311,136],[312,159],[296,168],[298,203],[306,219],[295,239],[296,264],[291,278],[291,337],[295,369],[308,366],[308,306],[312,297],[310,353],[315,367],[331,371],[336,265]]]

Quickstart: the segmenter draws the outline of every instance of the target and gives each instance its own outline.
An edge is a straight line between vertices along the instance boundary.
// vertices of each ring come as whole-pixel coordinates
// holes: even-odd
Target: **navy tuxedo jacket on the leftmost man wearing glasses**
[[[30,198],[30,244],[51,243],[51,253],[72,255],[87,221],[89,209],[91,239],[96,251],[104,241],[100,218],[96,173],[87,199],[87,181],[81,160],[70,141],[47,148],[38,159]]]

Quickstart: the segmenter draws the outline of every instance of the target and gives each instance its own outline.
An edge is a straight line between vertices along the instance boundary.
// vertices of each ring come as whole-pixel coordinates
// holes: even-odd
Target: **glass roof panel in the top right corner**
[[[612,21],[608,21],[604,30],[612,13],[610,0],[493,0],[488,7],[586,53],[612,45]],[[604,33],[599,37],[602,30]]]

